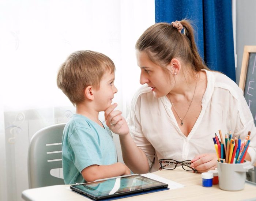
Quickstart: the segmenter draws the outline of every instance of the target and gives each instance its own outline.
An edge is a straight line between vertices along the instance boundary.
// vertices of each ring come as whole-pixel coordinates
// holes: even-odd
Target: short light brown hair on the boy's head
[[[107,71],[114,73],[115,65],[106,55],[90,50],[76,51],[61,65],[57,86],[76,105],[84,101],[86,87],[99,89],[101,79]]]

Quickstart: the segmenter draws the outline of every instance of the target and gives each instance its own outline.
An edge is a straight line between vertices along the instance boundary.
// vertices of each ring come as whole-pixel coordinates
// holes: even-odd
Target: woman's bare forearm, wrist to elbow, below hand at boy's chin
[[[148,173],[149,165],[146,154],[137,147],[131,135],[120,135],[120,144],[125,164],[137,174]]]

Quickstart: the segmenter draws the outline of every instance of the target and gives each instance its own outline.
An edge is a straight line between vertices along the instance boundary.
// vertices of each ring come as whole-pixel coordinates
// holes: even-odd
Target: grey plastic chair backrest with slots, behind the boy
[[[28,156],[29,188],[64,184],[50,170],[62,168],[61,140],[65,123],[48,126],[31,138]]]

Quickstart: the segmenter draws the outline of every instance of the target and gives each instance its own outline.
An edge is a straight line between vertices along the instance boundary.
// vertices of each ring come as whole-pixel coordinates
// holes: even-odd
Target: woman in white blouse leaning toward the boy
[[[242,140],[251,131],[245,159],[255,161],[256,128],[242,90],[203,64],[187,20],[149,27],[136,42],[136,57],[146,85],[132,101],[131,135],[120,132],[127,128],[118,111],[110,107],[105,113],[110,129],[122,133],[123,159],[133,172],[157,171],[159,159],[191,160],[198,172],[212,170],[218,130]]]

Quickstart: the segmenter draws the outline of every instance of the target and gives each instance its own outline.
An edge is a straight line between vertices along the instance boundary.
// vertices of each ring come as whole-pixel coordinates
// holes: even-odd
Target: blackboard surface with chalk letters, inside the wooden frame
[[[249,54],[244,97],[252,112],[254,124],[256,125],[256,53]]]

